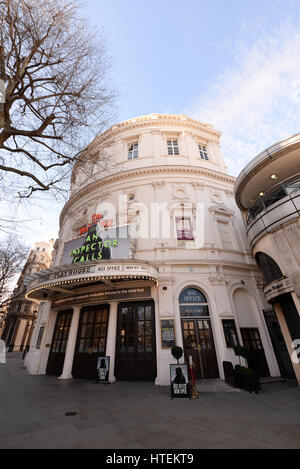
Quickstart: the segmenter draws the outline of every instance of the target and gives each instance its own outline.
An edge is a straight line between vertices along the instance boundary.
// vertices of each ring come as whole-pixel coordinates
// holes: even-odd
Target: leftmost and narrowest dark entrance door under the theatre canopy
[[[48,375],[60,376],[62,374],[72,315],[72,309],[60,311],[57,313],[53,339],[46,368],[46,373]]]

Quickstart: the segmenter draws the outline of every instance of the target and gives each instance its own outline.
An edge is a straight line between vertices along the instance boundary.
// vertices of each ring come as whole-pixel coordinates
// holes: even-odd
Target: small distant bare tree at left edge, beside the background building
[[[0,308],[12,299],[16,276],[21,272],[28,252],[28,247],[12,235],[0,241]],[[22,294],[18,292],[18,295]]]

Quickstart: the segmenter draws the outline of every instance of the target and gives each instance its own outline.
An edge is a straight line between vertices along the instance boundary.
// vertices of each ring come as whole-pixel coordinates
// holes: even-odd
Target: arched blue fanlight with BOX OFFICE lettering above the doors
[[[182,290],[179,308],[181,317],[209,316],[207,300],[197,288],[188,287]]]

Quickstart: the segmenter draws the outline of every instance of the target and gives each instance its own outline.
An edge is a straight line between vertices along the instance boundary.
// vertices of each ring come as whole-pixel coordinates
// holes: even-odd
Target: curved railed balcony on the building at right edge
[[[265,234],[300,216],[300,174],[281,181],[257,199],[247,212],[251,247]]]

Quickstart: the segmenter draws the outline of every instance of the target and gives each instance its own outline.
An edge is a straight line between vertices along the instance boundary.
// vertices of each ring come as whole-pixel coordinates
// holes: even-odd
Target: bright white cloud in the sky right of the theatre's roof
[[[285,23],[251,45],[238,44],[234,65],[208,85],[189,115],[222,132],[234,176],[266,147],[300,132],[299,25]]]

